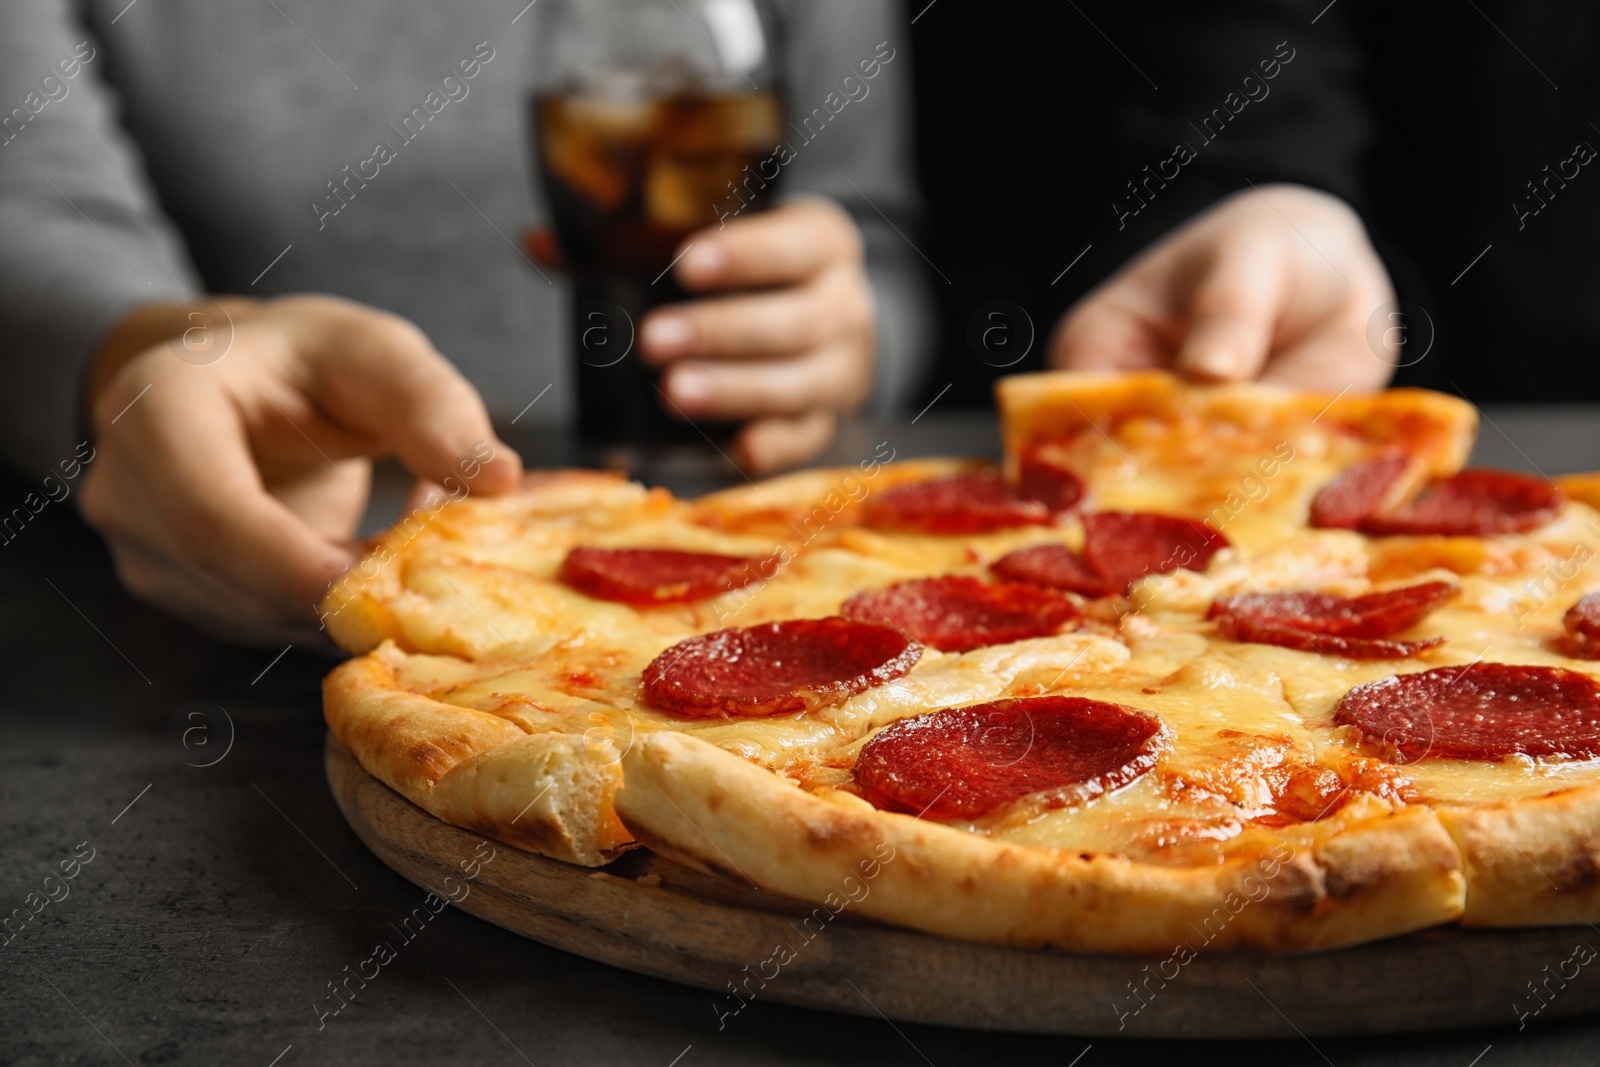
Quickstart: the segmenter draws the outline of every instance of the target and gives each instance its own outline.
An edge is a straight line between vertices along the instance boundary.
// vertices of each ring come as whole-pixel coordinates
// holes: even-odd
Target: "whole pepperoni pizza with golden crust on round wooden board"
[[[1419,390],[998,392],[1002,467],[402,523],[325,603],[328,725],[512,845],[950,937],[1600,920],[1600,480],[1462,470],[1475,413]]]

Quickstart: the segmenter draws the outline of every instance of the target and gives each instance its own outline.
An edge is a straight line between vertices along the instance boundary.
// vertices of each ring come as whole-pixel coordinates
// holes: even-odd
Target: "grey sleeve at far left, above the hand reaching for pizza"
[[[69,6],[10,0],[0,32],[0,461],[27,477],[82,440],[106,331],[200,290],[117,125],[106,48]]]

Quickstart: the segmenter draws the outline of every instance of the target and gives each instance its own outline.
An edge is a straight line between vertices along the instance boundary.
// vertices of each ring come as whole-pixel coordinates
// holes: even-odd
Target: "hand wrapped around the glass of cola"
[[[667,411],[747,419],[734,458],[792,467],[827,446],[835,413],[872,386],[872,296],[856,224],[835,203],[795,200],[690,235],[675,267],[691,293],[651,312],[640,354],[666,366]]]

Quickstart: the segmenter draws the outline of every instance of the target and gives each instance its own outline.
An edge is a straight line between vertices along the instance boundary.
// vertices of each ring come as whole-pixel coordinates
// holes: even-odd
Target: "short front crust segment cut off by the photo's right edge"
[[[1600,921],[1600,785],[1438,817],[1461,849],[1467,926]]]

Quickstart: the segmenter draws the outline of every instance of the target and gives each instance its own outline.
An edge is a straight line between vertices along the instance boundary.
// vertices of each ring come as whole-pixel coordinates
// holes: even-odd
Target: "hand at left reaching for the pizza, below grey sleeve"
[[[139,597],[227,637],[315,638],[358,558],[371,456],[466,493],[517,483],[477,392],[403,318],[318,296],[203,307],[221,358],[163,339],[189,315],[150,306],[91,381],[83,515]]]

